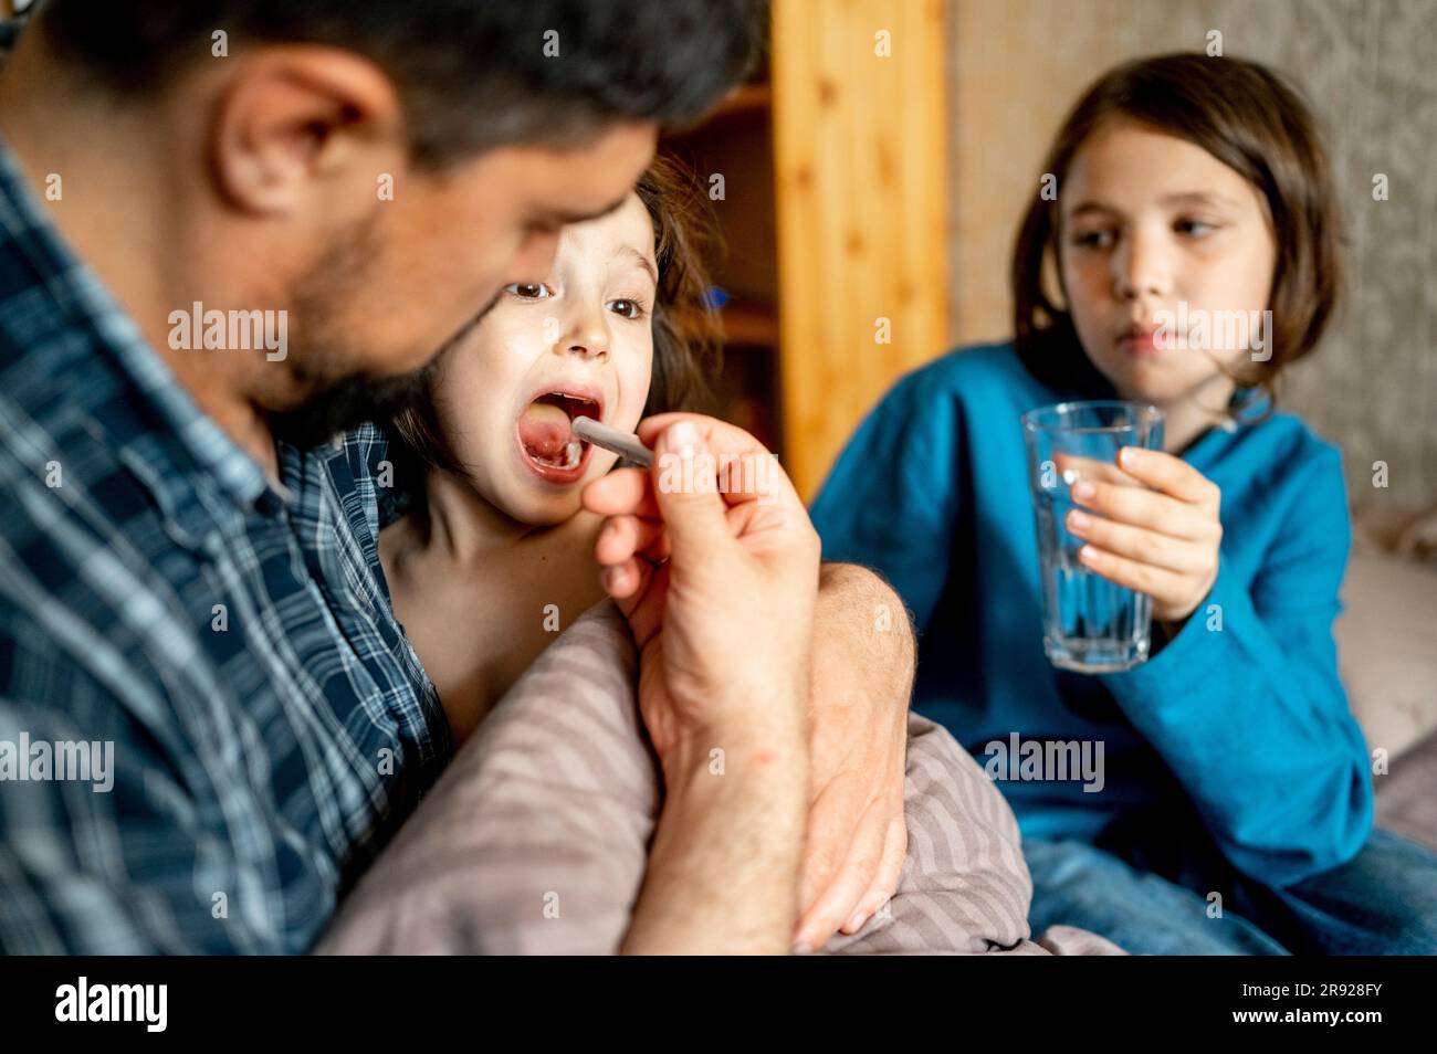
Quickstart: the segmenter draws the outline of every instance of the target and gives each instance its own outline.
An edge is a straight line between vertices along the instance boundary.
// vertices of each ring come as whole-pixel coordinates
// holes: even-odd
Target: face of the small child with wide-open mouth
[[[614,454],[575,439],[591,416],[632,432],[648,398],[658,269],[654,225],[637,194],[566,227],[553,270],[504,289],[444,359],[434,382],[440,429],[479,495],[533,526],[579,511],[579,491]]]

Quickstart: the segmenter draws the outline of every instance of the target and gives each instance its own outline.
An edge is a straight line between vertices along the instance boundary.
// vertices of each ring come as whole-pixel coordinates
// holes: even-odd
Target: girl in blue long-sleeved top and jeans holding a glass
[[[1311,113],[1250,62],[1145,59],[1082,96],[1042,171],[1058,192],[1035,192],[1019,231],[1013,342],[884,398],[813,505],[823,557],[904,596],[914,706],[980,761],[1012,735],[1105,748],[1096,793],[1000,784],[1035,929],[1069,922],[1140,953],[1437,951],[1437,857],[1372,829],[1338,681],[1339,455],[1275,409],[1339,287]],[[1211,325],[1263,310],[1246,342]],[[1152,599],[1154,653],[1121,673],[1043,655],[1019,416],[1072,398],[1141,399],[1167,421],[1164,451],[1121,455],[1147,488],[1072,488],[1082,560]]]

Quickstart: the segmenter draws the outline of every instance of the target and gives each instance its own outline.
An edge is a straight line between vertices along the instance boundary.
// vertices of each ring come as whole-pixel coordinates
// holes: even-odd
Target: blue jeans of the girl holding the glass
[[[1437,853],[1397,834],[1374,829],[1352,860],[1285,889],[1210,844],[1161,875],[1141,844],[1102,843],[1023,840],[1035,933],[1068,923],[1135,955],[1437,955]]]

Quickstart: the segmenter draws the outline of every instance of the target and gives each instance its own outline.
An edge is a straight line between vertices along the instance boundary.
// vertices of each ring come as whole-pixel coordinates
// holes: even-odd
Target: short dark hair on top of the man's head
[[[394,80],[414,161],[582,145],[615,119],[681,126],[749,70],[766,0],[49,0],[36,26],[111,92],[142,96],[264,43],[362,55]]]

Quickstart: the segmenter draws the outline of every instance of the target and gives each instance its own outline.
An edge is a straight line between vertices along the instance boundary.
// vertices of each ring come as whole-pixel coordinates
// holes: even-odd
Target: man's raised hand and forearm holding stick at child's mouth
[[[639,645],[665,801],[625,951],[775,952],[798,919],[819,541],[741,429],[667,414],[651,471],[589,484],[605,589]],[[717,470],[729,465],[720,491]],[[744,487],[763,481],[762,490]],[[662,563],[657,563],[662,561]]]

